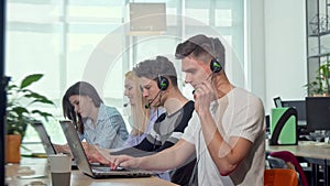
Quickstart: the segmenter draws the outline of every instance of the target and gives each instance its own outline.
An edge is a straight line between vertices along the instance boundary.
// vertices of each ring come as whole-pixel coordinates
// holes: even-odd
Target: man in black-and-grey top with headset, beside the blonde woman
[[[145,107],[164,107],[166,112],[158,116],[151,133],[133,147],[111,152],[109,155],[103,150],[85,145],[90,162],[110,164],[112,155],[129,154],[136,157],[161,152],[173,146],[188,125],[194,111],[194,101],[188,100],[180,92],[173,63],[164,56],[157,56],[155,59],[139,63],[133,70],[141,79],[143,96],[148,100]],[[194,166],[195,158],[191,156],[183,165],[170,168],[170,182],[188,185]],[[164,169],[164,172],[167,171],[169,169]],[[161,174],[162,178],[166,174]]]

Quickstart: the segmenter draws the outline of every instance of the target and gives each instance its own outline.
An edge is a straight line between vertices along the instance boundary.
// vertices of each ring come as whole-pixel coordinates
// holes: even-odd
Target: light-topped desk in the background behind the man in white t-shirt
[[[329,185],[328,173],[330,165],[330,144],[311,141],[299,141],[298,145],[268,145],[266,141],[266,152],[289,151],[299,160],[312,164],[312,185],[317,185],[318,165],[324,167],[324,186]]]

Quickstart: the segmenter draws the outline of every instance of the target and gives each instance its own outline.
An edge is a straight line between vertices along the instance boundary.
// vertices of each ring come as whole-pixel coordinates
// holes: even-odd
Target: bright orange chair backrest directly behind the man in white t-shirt
[[[265,169],[264,186],[298,186],[297,172],[284,168]]]

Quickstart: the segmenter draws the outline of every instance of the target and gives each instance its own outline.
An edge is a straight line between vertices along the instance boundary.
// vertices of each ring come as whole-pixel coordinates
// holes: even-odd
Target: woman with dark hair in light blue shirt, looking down
[[[63,114],[75,124],[79,139],[105,149],[121,147],[128,139],[122,116],[114,107],[106,106],[97,90],[86,81],[67,89]]]

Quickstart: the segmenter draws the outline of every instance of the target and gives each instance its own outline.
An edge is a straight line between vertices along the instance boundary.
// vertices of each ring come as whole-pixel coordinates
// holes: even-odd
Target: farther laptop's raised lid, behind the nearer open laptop
[[[44,124],[41,121],[33,121],[31,125],[34,128],[36,133],[38,134],[42,144],[45,149],[45,152],[47,155],[56,154],[56,150],[51,141],[51,138],[44,127]],[[77,164],[75,161],[72,162],[72,169],[78,169]]]

